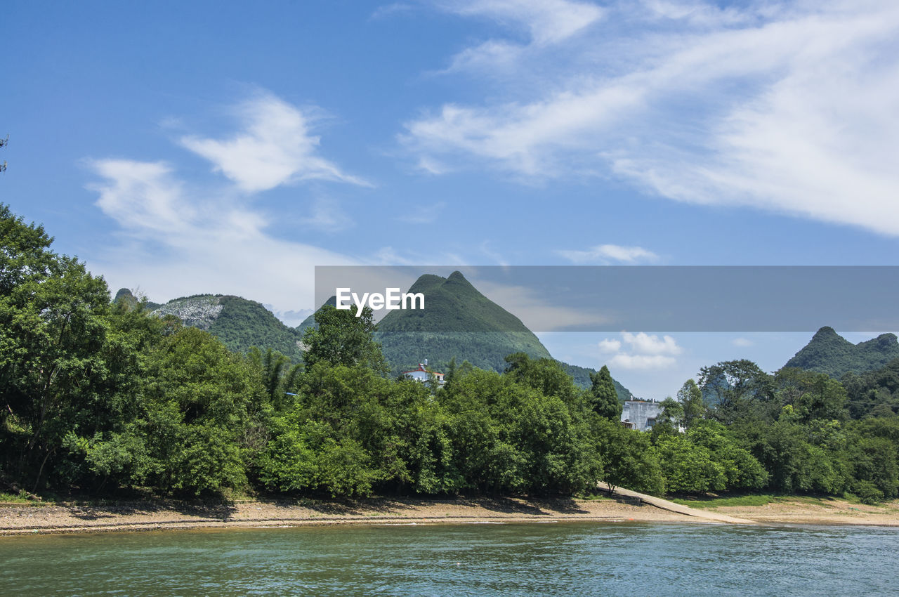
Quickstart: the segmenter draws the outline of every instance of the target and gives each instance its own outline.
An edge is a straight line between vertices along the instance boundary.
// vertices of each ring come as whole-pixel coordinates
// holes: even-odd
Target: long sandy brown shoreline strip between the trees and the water
[[[332,525],[428,525],[547,522],[678,522],[692,524],[862,525],[899,527],[899,502],[877,506],[797,498],[760,506],[682,507],[690,513],[641,503],[632,496],[594,500],[373,498],[337,503],[254,500],[0,504],[0,537],[143,530],[261,529]],[[730,520],[727,520],[730,519]]]

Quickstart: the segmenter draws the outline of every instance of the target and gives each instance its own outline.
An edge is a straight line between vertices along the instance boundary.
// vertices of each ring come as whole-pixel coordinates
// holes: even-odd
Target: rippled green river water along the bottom
[[[887,594],[899,530],[517,523],[0,538],[28,595]]]

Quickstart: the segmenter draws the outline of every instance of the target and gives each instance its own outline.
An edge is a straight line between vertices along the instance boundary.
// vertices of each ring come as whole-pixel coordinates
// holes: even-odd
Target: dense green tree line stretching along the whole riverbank
[[[853,419],[846,388],[820,373],[718,363],[636,432],[606,368],[583,389],[557,361],[516,352],[503,372],[450,361],[444,385],[396,378],[370,311],[334,307],[305,331],[302,362],[231,352],[146,303],[111,301],[51,242],[0,205],[3,490],[574,495],[603,480],[897,494],[899,418]],[[851,396],[895,392],[888,373],[855,379]]]

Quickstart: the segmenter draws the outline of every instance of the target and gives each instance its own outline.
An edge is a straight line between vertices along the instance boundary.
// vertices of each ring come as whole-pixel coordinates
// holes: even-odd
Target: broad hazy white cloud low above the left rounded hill
[[[140,286],[151,300],[198,292],[271,303],[278,312],[312,307],[316,265],[349,257],[271,236],[267,218],[223,200],[220,191],[185,189],[161,163],[97,160],[96,205],[122,227],[123,244],[91,260],[112,288]],[[203,200],[200,197],[214,196]]]

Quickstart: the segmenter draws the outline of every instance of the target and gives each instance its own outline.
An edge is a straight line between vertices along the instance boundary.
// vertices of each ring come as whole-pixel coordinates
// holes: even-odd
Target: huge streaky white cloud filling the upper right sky
[[[899,4],[619,2],[592,20],[563,4],[458,4],[529,28],[531,43],[516,58],[510,42],[482,42],[454,68],[513,64],[516,81],[530,69],[545,85],[504,82],[490,102],[406,122],[416,161],[612,176],[672,200],[899,236]]]

